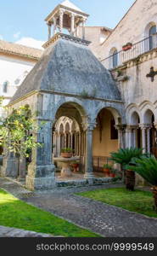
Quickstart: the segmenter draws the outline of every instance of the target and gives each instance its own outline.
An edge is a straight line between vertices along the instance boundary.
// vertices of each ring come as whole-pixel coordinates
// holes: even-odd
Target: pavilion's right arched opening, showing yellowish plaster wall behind
[[[106,177],[104,165],[113,166],[109,159],[110,152],[117,151],[119,148],[118,125],[120,119],[115,109],[103,108],[97,116],[97,126],[93,130],[93,170],[99,176]]]

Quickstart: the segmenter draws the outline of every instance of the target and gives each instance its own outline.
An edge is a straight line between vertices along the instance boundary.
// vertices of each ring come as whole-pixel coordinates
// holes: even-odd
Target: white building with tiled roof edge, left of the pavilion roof
[[[0,96],[7,105],[32,67],[42,56],[42,50],[0,40]],[[3,115],[1,108],[1,115]]]

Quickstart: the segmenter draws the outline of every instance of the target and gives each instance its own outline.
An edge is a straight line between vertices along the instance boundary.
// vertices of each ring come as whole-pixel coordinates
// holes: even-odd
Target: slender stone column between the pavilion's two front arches
[[[88,124],[86,130],[86,166],[85,178],[93,183],[93,129],[95,124]]]

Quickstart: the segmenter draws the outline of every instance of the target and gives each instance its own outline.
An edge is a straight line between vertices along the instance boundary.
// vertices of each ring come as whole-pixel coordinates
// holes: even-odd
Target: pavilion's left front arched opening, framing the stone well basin
[[[83,177],[85,173],[85,132],[82,129],[85,115],[83,108],[74,102],[64,103],[56,112],[57,119],[53,125],[53,160],[56,166],[56,178],[59,180],[77,179]],[[60,161],[62,153],[70,151],[70,165],[68,168],[72,175],[66,177],[62,175],[63,163]],[[73,168],[73,162],[78,163],[77,168]]]

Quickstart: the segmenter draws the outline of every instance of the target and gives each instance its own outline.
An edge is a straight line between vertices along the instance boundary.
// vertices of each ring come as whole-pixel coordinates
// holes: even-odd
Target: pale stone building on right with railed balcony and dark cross
[[[137,0],[101,45],[126,112],[126,146],[156,154],[157,1]],[[127,43],[131,43],[127,47]],[[126,46],[126,49],[125,49]]]

